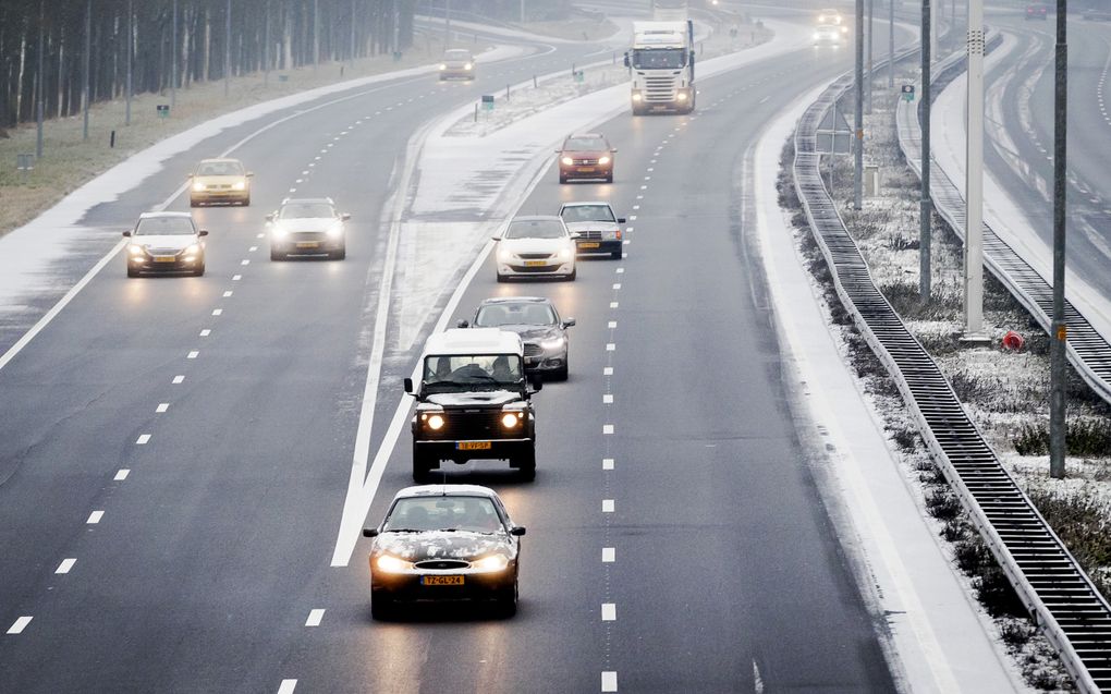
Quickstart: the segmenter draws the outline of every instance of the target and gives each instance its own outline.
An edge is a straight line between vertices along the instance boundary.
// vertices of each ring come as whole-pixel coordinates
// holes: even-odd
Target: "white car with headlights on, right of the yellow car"
[[[350,214],[336,211],[331,198],[287,198],[274,212],[267,214],[270,260],[290,255],[347,258],[347,229]]]

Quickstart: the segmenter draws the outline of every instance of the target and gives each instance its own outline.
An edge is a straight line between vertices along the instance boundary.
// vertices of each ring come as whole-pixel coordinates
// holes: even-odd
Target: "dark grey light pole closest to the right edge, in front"
[[[1057,0],[1057,50],[1053,80],[1053,324],[1050,335],[1049,473],[1064,477],[1065,348],[1064,323],[1064,203],[1065,135],[1069,115],[1069,44],[1065,32],[1067,0]]]

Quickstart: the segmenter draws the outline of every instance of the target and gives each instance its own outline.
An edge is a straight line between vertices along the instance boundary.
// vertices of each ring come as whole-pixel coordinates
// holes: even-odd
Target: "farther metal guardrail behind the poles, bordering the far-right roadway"
[[[962,56],[958,54],[957,58],[962,59]],[[963,70],[962,60],[945,61],[939,66],[938,79],[944,79],[947,73],[961,70]],[[919,110],[910,103],[900,103],[895,111],[899,147],[907,158],[907,163],[921,179],[922,130],[919,118]],[[937,163],[932,167],[931,173],[930,194],[933,198],[934,208],[963,241],[964,197],[952,179]],[[1045,332],[1049,332],[1053,311],[1052,284],[1047,282],[1030,263],[1000,239],[987,223],[983,225],[983,259],[991,273],[1034,316],[1038,324]],[[1080,378],[1100,398],[1111,402],[1111,343],[1088,322],[1088,319],[1068,299],[1064,302],[1064,318],[1065,324],[1069,326],[1069,339],[1065,341],[1069,361]]]

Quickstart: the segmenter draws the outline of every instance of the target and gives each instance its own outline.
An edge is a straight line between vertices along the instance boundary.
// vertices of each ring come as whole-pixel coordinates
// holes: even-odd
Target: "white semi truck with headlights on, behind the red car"
[[[632,77],[632,113],[694,110],[694,24],[691,20],[632,23],[624,64]]]

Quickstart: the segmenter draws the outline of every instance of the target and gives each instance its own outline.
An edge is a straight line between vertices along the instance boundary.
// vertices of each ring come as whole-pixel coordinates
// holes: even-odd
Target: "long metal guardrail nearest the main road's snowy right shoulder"
[[[952,385],[872,281],[819,171],[815,132],[851,87],[834,81],[794,133],[794,185],[838,295],[918,419],[991,553],[1082,692],[1111,692],[1111,605],[964,412]]]

